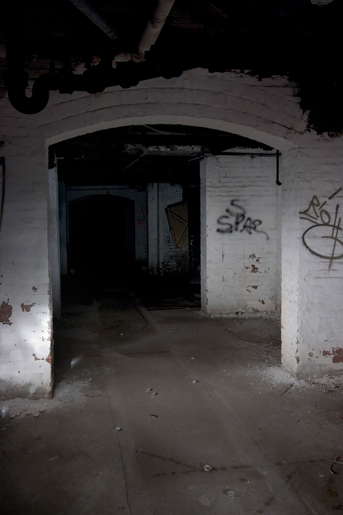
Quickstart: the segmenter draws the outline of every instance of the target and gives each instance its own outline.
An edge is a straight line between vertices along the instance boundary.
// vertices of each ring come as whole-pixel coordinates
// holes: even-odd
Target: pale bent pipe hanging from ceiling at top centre
[[[73,0],[74,1],[74,0]],[[149,52],[152,45],[157,41],[157,38],[166,23],[168,14],[170,13],[175,0],[158,0],[156,9],[150,16],[145,31],[142,34],[138,44],[137,52],[130,54],[122,52],[114,58],[114,62],[120,61],[144,61],[145,53]]]

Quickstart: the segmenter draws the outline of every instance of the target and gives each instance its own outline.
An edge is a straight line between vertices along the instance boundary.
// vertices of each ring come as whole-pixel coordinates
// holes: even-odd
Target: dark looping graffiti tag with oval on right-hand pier
[[[300,211],[300,218],[311,223],[302,235],[302,243],[318,258],[329,260],[329,270],[333,261],[343,259],[343,229],[340,226],[339,204],[336,204],[331,213],[330,210],[324,209],[324,206],[341,190],[342,188],[339,188],[323,202],[314,195],[309,207]]]

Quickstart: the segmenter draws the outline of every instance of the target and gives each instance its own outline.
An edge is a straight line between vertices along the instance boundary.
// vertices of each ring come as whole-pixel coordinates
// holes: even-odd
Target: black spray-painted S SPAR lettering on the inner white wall
[[[218,218],[217,232],[223,234],[233,234],[235,232],[246,232],[252,234],[258,232],[265,235],[266,239],[269,239],[268,234],[260,229],[262,221],[259,219],[252,220],[249,216],[246,216],[245,209],[239,205],[239,200],[231,200],[230,207],[225,210],[226,215],[222,215]]]

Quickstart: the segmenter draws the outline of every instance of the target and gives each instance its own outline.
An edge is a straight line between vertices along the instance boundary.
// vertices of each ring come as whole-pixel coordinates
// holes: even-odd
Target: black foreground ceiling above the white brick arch
[[[68,0],[8,2],[3,7],[0,44],[6,46],[6,61],[0,64],[14,107],[37,112],[44,108],[49,90],[96,93],[109,85],[126,88],[203,67],[210,72],[240,70],[259,79],[287,75],[298,85],[302,109],[310,111],[309,127],[331,135],[342,132],[340,0],[324,7],[311,0],[175,0],[146,59],[118,62],[115,68],[112,61],[118,54],[136,52],[156,2],[93,5],[116,31],[115,39]],[[76,77],[73,71],[80,64],[87,70]],[[33,88],[34,109],[33,100],[24,98],[25,70],[30,77],[45,73]]]

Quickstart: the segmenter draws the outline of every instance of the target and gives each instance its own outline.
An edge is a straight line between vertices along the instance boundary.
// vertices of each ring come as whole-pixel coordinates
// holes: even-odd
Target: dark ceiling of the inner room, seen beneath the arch
[[[198,185],[203,157],[273,150],[236,134],[184,125],[133,125],[84,134],[49,147],[49,167],[67,186],[149,182]],[[252,156],[253,157],[253,156]],[[272,178],[271,178],[272,179]],[[274,178],[273,178],[274,179]],[[273,180],[272,179],[272,180]]]

